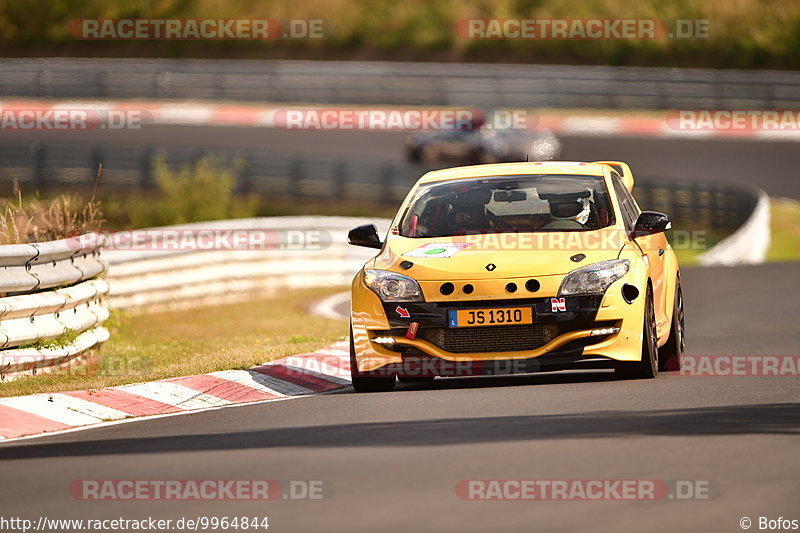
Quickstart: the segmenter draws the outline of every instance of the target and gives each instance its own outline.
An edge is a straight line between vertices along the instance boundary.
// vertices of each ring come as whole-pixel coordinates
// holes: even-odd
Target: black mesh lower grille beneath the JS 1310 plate
[[[535,350],[558,335],[555,324],[422,328],[419,337],[451,353]]]

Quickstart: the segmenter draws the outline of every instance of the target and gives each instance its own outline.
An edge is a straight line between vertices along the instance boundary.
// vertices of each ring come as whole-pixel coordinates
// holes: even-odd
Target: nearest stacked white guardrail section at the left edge
[[[104,244],[90,234],[0,246],[0,378],[52,369],[108,338]]]

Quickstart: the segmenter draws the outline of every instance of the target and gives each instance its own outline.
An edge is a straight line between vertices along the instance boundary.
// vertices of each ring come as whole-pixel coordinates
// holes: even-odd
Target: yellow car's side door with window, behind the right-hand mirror
[[[622,179],[616,174],[611,173],[611,180],[614,183],[614,191],[617,194],[622,216],[625,220],[625,228],[628,233],[633,231],[633,226],[636,224],[636,219],[642,212],[639,205],[633,198],[633,195],[628,191],[628,188],[622,183]],[[666,308],[666,294],[664,284],[664,254],[667,249],[667,237],[664,233],[656,233],[655,235],[645,235],[635,239],[636,243],[641,248],[646,261],[650,264],[650,278],[653,282],[653,303],[656,311],[656,326],[658,334],[664,331],[663,328],[667,326],[667,308]]]

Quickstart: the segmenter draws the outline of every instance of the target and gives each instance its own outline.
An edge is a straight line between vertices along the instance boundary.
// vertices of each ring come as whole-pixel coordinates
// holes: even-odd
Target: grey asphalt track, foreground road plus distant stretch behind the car
[[[134,133],[153,143],[275,150],[301,143],[316,153],[401,157],[390,133],[177,126]],[[88,140],[73,137],[58,142]],[[619,157],[640,174],[759,176],[770,194],[800,198],[794,143],[574,137],[564,144],[568,159]],[[685,269],[689,353],[797,355],[797,279],[800,264]],[[796,376],[437,380],[0,444],[0,516],[266,514],[271,531],[741,531],[744,516],[800,519],[798,444]],[[187,478],[328,480],[335,493],[268,503],[84,502],[68,494],[77,479]],[[459,480],[519,478],[709,480],[715,489],[708,500],[657,502],[456,496]]]

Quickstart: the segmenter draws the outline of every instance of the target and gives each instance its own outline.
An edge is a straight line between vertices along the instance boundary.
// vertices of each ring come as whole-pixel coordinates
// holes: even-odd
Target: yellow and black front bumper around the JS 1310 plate
[[[354,284],[356,363],[362,373],[465,376],[638,361],[644,299],[626,302],[621,287],[554,307],[551,296],[387,304]],[[449,327],[451,311],[498,307],[530,307],[533,325]]]

